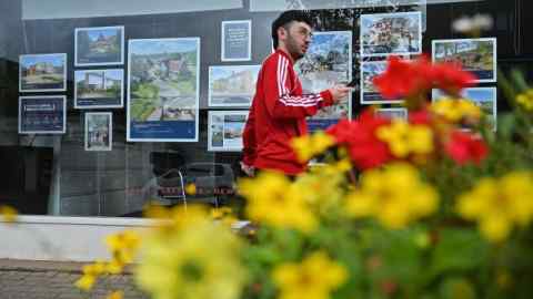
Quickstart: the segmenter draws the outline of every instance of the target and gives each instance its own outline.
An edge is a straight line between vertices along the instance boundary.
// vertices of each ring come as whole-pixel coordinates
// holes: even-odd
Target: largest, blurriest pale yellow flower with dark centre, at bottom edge
[[[239,264],[242,245],[228,227],[200,214],[193,207],[177,212],[179,225],[143,239],[135,279],[151,298],[240,297],[247,277]]]

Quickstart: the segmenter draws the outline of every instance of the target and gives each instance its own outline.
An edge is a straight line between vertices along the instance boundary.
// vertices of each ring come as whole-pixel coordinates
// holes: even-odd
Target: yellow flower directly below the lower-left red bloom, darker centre
[[[364,173],[361,187],[348,196],[349,215],[375,217],[393,229],[431,215],[438,205],[438,193],[421,181],[416,168],[400,163]]]

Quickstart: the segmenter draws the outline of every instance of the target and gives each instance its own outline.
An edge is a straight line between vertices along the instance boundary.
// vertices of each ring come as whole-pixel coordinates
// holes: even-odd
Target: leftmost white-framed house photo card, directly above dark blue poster
[[[19,56],[19,92],[67,91],[67,54]]]

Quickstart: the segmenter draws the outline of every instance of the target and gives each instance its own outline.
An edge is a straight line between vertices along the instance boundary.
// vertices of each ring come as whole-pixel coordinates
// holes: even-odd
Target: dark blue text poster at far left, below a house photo
[[[19,134],[63,134],[66,120],[64,95],[19,97]]]

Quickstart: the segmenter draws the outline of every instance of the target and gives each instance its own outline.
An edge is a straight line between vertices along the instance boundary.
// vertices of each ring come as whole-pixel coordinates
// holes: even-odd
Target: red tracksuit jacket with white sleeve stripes
[[[308,133],[305,117],[333,104],[330,91],[302,94],[302,83],[282,50],[263,62],[243,133],[243,163],[259,169],[295,175],[306,165],[296,161],[290,145]]]

